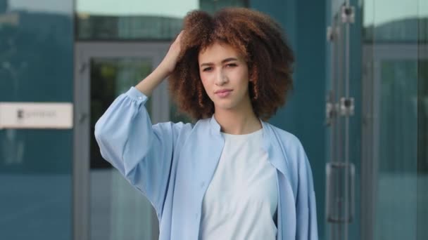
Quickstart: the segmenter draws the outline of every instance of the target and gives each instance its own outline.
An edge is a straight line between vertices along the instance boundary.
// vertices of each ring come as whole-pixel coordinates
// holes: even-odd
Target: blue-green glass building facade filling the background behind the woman
[[[157,239],[151,204],[99,154],[96,120],[193,9],[263,11],[294,49],[270,120],[303,143],[320,239],[428,239],[428,1],[0,0],[0,239]],[[166,84],[154,123],[189,121]],[[8,103],[71,103],[73,127],[4,126]]]

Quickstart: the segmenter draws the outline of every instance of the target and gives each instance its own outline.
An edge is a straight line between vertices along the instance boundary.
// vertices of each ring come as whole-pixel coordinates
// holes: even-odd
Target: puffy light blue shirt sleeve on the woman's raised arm
[[[159,214],[178,138],[190,124],[153,126],[144,107],[147,100],[134,87],[120,95],[96,122],[95,138],[103,158],[139,189]]]

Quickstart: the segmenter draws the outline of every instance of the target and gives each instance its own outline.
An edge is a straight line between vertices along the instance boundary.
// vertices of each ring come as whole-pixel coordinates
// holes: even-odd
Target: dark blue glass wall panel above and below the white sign
[[[73,1],[0,0],[0,102],[73,102]],[[72,238],[73,131],[0,129],[0,239]]]

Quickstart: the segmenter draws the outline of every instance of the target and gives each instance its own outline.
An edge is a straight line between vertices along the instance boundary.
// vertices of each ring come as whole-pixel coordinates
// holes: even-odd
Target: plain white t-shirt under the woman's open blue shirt
[[[262,129],[222,135],[225,147],[203,198],[200,239],[276,239],[276,168],[262,149]]]

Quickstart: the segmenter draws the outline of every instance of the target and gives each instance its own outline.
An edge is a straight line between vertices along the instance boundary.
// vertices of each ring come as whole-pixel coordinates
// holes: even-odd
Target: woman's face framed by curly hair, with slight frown
[[[214,43],[199,53],[199,74],[215,110],[251,107],[248,65],[228,44]]]

